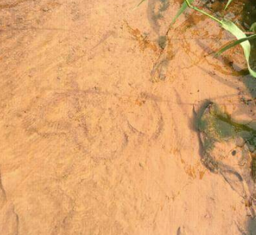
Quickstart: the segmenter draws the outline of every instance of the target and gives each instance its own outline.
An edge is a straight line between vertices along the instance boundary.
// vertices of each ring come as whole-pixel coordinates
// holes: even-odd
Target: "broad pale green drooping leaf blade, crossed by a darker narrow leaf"
[[[240,28],[238,28],[232,21],[223,20],[221,26],[223,29],[226,29],[231,34],[233,34],[237,38],[237,40],[246,38],[245,33]],[[242,41],[240,45],[244,50],[245,59],[247,61],[247,66],[250,71],[250,74],[256,78],[256,71],[253,71],[252,68],[250,67],[250,52],[251,52],[250,41],[248,40]]]

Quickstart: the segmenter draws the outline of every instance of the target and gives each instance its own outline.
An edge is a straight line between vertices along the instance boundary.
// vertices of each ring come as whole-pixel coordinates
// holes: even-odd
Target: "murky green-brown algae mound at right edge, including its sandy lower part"
[[[255,216],[256,121],[237,121],[212,101],[205,101],[194,114],[202,164],[222,175],[245,204],[250,203],[250,214]],[[232,149],[230,158],[225,160],[225,149],[230,143],[241,154],[237,156],[237,150]]]

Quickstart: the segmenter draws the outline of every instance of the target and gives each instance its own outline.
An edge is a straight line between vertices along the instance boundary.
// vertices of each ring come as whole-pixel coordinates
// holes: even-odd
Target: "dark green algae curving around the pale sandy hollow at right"
[[[202,148],[202,162],[210,171],[229,169],[213,154],[217,143],[242,139],[243,148],[252,154],[256,150],[256,121],[236,121],[211,101],[205,102],[195,121]],[[253,176],[256,179],[256,174]]]

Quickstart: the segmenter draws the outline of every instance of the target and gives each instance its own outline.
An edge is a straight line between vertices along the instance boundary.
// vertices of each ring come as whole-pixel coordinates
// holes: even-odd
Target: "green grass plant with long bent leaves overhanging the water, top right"
[[[140,1],[137,6],[142,4],[144,1],[146,0]],[[168,1],[160,1],[162,3],[161,6],[164,9],[166,9],[169,6]],[[205,0],[200,1],[202,1],[202,3],[205,3]],[[217,1],[223,2],[222,0]],[[222,12],[220,11],[218,12],[218,14],[212,15],[208,11],[205,11],[205,9],[200,9],[197,6],[194,6],[194,0],[184,0],[181,8],[177,12],[176,16],[174,16],[172,23],[169,25],[169,29],[172,28],[175,21],[177,21],[179,16],[183,14],[187,8],[200,12],[200,14],[205,15],[208,18],[212,19],[212,21],[216,21],[217,24],[219,24],[220,27],[222,27],[222,29],[225,29],[226,31],[230,32],[230,34],[235,36],[237,40],[230,41],[229,44],[225,45],[224,47],[222,47],[222,49],[217,51],[215,56],[220,56],[220,54],[222,54],[224,51],[240,44],[244,51],[245,60],[247,61],[247,68],[250,72],[250,75],[256,78],[256,2],[245,2],[244,11],[242,13],[242,24],[237,24],[237,22],[231,21],[229,19],[230,17],[227,17],[229,14],[231,14],[231,12],[228,12],[229,6],[235,4],[235,1],[227,0],[226,2],[227,3],[223,7],[223,11],[225,11],[225,14],[222,14]],[[207,4],[205,6],[207,6]],[[167,30],[167,32],[169,31],[169,29]]]

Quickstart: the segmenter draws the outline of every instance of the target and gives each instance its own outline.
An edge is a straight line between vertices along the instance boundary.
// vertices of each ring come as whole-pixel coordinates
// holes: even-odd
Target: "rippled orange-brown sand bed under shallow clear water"
[[[205,99],[253,119],[230,67],[245,61],[214,59],[231,36],[198,14],[161,51],[179,2],[159,25],[135,0],[0,2],[1,235],[248,232],[250,205],[202,165],[192,126]]]

